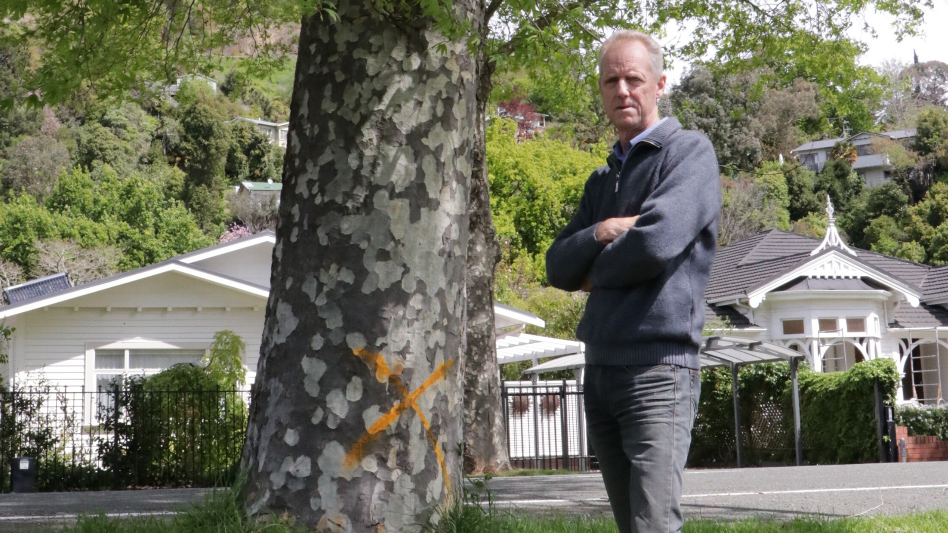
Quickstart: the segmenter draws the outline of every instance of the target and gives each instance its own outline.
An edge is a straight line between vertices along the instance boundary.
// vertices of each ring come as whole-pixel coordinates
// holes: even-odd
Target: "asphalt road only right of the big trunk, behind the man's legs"
[[[598,474],[495,478],[490,489],[502,507],[609,512]],[[682,502],[687,518],[714,520],[948,508],[948,462],[686,470]]]

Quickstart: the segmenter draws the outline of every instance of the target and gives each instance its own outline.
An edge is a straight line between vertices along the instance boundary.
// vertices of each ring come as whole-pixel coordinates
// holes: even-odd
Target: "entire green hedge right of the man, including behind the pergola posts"
[[[875,391],[879,377],[886,398],[895,397],[899,378],[890,359],[856,364],[848,372],[822,374],[801,364],[800,425],[804,460],[813,464],[878,460]],[[787,363],[745,366],[738,374],[741,434],[747,464],[790,463],[793,447],[793,391]],[[774,412],[780,416],[773,416]],[[702,371],[702,395],[692,432],[689,466],[736,463],[731,373]]]

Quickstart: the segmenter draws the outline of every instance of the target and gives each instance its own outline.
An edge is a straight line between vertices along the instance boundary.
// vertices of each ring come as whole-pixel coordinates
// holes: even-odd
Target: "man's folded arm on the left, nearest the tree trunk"
[[[596,224],[593,213],[593,194],[590,178],[586,182],[579,209],[556,235],[553,245],[546,250],[546,278],[550,285],[563,290],[579,290],[590,273],[590,267],[605,245],[595,238]]]

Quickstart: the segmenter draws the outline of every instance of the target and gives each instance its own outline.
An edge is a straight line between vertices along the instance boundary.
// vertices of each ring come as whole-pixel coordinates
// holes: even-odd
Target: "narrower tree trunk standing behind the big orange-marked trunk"
[[[465,472],[510,469],[501,414],[501,383],[494,326],[494,267],[501,249],[490,214],[485,112],[494,64],[478,57],[478,119],[471,176],[467,246],[467,349],[465,351]]]

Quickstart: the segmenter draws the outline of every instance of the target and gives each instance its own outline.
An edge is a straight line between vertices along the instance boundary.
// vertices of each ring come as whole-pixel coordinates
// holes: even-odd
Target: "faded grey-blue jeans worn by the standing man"
[[[682,530],[682,474],[701,373],[673,365],[586,365],[583,400],[620,533]]]

